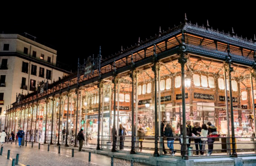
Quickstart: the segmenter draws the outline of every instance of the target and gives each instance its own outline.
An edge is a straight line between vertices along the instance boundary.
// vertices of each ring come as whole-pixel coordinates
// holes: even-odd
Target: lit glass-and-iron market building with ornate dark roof
[[[7,130],[22,127],[26,140],[76,146],[75,136],[82,128],[91,136],[91,147],[114,152],[120,139],[111,132],[117,129],[118,135],[122,124],[127,131],[124,151],[135,154],[141,126],[143,150],[159,156],[162,121],[170,123],[183,140],[188,138],[186,121],[192,126],[211,122],[220,135],[212,155],[254,154],[255,42],[234,31],[214,30],[208,21],[204,27],[185,18],[183,24],[159,29],[158,35],[139,39],[136,46],[108,59],[101,59],[100,49],[97,58],[86,57],[84,64],[78,64],[76,74],[41,85],[40,91],[12,104]],[[181,149],[176,139],[175,157],[189,158],[186,144]],[[191,146],[195,150],[193,140]]]

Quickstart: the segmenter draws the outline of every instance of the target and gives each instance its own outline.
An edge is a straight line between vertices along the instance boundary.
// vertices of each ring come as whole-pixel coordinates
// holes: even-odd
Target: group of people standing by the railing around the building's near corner
[[[208,154],[207,155],[211,155],[212,151],[213,151],[213,144],[215,141],[214,137],[217,137],[217,127],[215,127],[213,124],[211,124],[211,122],[208,122],[207,125],[206,124],[202,124],[202,127],[199,126],[200,123],[199,122],[195,122],[195,126],[191,126],[191,121],[187,121],[186,122],[186,134],[189,138],[187,138],[186,143],[187,143],[187,147],[191,146],[191,139],[194,139],[195,142],[195,148],[196,148],[196,154],[195,155],[199,155],[199,152],[201,155],[204,155],[204,151],[205,151],[205,145],[208,144]],[[208,127],[207,127],[208,126]],[[183,154],[183,127],[182,125],[180,126],[180,144],[181,144],[181,155]],[[162,137],[166,137],[167,139],[167,146],[170,149],[170,154],[174,155],[175,154],[175,150],[173,147],[174,144],[174,140],[175,140],[175,132],[174,132],[174,128],[172,127],[172,125],[170,123],[167,124],[166,121],[163,121],[161,124],[161,136]],[[163,145],[163,152],[164,154],[167,154],[165,147],[164,147],[164,143],[162,143]]]

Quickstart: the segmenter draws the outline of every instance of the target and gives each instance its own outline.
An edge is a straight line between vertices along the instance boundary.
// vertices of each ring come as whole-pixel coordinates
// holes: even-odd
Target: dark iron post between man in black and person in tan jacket
[[[131,54],[132,58],[132,54]],[[131,59],[132,60],[132,59]],[[131,71],[131,151],[130,154],[135,154],[135,147],[134,147],[134,138],[135,138],[135,131],[134,131],[134,77],[135,77],[135,70]]]

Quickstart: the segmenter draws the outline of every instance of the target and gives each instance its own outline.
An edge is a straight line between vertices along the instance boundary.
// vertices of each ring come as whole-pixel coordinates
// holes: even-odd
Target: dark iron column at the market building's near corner
[[[186,44],[185,44],[185,39],[184,39],[184,33],[182,31],[182,44],[180,46],[180,58],[178,62],[181,64],[181,83],[182,83],[182,137],[183,137],[183,154],[182,157],[185,160],[188,160],[188,149],[187,149],[187,131],[186,131],[186,103],[185,103],[185,73],[184,73],[184,68],[185,68],[185,63],[188,61],[188,59],[185,57],[185,52],[186,52]]]

